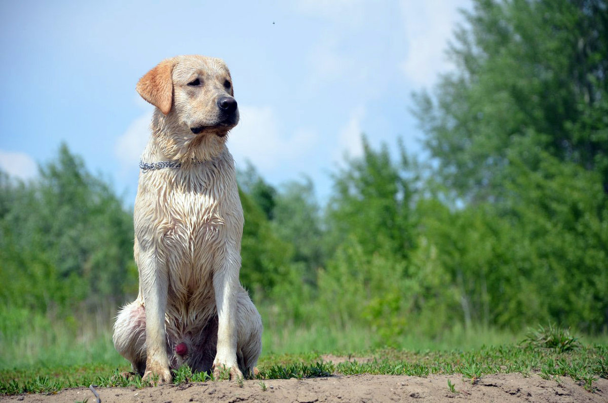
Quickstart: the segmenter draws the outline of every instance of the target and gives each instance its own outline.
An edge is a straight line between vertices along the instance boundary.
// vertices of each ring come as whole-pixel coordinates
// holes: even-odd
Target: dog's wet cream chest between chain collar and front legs
[[[180,266],[175,269],[210,269],[218,250],[241,238],[236,184],[153,174],[140,178],[134,220],[139,246],[154,247],[162,260]]]

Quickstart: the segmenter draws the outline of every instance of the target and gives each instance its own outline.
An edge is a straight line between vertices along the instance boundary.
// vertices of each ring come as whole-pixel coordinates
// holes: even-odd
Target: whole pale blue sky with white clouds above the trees
[[[452,66],[447,41],[471,0],[0,0],[0,168],[20,179],[61,142],[132,205],[153,106],[135,84],[181,54],[222,58],[240,109],[237,168],[317,197],[345,155],[423,154],[412,93]]]

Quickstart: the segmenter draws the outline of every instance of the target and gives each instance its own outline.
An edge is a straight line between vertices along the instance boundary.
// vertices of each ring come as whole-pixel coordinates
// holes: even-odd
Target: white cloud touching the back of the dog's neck
[[[153,110],[151,109],[133,120],[125,133],[116,140],[114,153],[119,159],[120,164],[122,164],[123,170],[129,170],[138,166],[139,157],[150,137],[152,112]]]

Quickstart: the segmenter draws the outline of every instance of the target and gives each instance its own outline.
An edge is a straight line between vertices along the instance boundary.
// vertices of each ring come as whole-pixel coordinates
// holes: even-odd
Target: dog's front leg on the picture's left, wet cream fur
[[[166,267],[159,262],[154,250],[142,252],[140,276],[143,303],[146,311],[146,371],[144,380],[159,384],[171,382],[165,336],[165,312],[167,309],[168,278]]]

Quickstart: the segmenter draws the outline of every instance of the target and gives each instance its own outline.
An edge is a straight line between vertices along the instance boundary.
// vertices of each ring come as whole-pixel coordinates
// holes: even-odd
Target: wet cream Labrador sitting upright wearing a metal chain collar
[[[119,311],[112,340],[142,379],[171,369],[252,377],[262,322],[239,282],[243,208],[227,134],[239,120],[220,59],[161,61],[137,83],[152,105],[134,207],[137,299]]]

